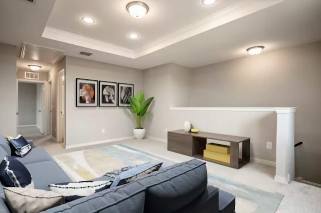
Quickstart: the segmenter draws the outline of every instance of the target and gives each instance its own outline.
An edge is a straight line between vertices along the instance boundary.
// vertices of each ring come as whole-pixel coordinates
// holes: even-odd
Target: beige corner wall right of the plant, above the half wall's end
[[[146,135],[166,139],[169,127],[169,107],[182,107],[190,99],[189,68],[165,64],[144,70],[143,88],[146,97],[154,96],[147,120]]]

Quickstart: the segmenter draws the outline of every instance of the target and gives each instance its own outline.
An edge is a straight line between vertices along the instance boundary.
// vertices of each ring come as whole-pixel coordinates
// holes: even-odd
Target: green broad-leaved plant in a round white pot
[[[136,128],[133,132],[136,139],[142,139],[145,136],[145,129],[142,127],[142,123],[150,113],[150,111],[148,111],[148,107],[153,99],[154,97],[150,97],[145,100],[143,91],[138,91],[135,96],[129,97],[130,106],[127,108],[135,117]]]

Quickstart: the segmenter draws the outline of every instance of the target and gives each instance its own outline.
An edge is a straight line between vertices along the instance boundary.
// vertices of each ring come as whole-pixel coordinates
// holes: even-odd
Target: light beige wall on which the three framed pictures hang
[[[132,137],[134,120],[125,108],[76,107],[76,78],[132,83],[135,93],[142,89],[141,70],[67,56],[66,146]]]

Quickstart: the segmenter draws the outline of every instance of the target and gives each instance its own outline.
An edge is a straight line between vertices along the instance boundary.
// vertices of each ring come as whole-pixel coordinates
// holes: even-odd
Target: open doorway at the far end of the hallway
[[[18,81],[18,133],[24,137],[45,135],[44,82]]]

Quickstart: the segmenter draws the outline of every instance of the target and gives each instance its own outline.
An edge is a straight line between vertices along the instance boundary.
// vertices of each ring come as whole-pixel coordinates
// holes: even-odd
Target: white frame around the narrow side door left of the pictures
[[[65,76],[65,69],[62,69],[60,70],[58,73],[57,73],[57,100],[56,100],[56,103],[57,103],[57,131],[56,131],[56,137],[57,137],[57,142],[59,142],[61,136],[60,136],[60,113],[61,113],[61,110],[60,109],[60,76]],[[65,83],[65,86],[66,86],[66,83]],[[66,91],[66,88],[65,88],[65,91]],[[65,92],[63,93],[63,96],[66,97],[65,95]],[[65,100],[66,101],[66,100]],[[64,147],[66,147],[66,104],[63,105],[63,111],[64,111],[64,121],[63,121],[63,144],[64,144]]]

